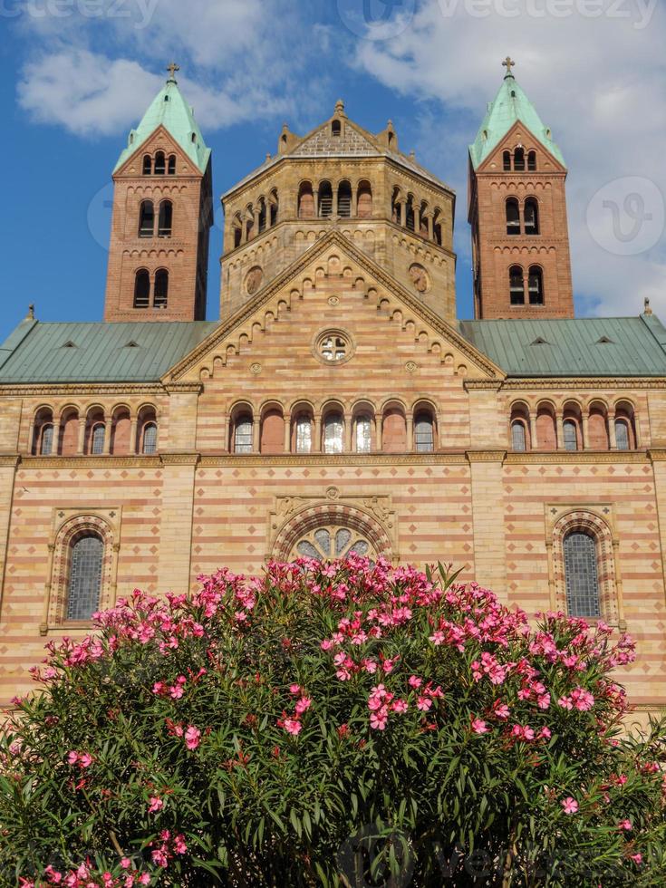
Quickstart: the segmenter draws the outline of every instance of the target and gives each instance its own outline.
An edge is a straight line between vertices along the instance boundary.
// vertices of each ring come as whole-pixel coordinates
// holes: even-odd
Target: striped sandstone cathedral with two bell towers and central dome
[[[211,151],[169,66],[112,172],[104,320],[31,308],[0,346],[0,702],[135,587],[354,551],[630,632],[635,717],[666,706],[666,328],[574,317],[565,155],[504,64],[473,320],[454,191],[338,101],[222,195],[214,322]]]

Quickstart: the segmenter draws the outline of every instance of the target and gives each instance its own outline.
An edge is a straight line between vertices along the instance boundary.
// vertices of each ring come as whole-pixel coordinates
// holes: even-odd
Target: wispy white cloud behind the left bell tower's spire
[[[18,85],[19,102],[35,121],[86,136],[135,124],[164,82],[175,54],[179,83],[207,130],[239,121],[294,115],[304,64],[315,39],[294,40],[303,23],[286,0],[105,0],[101,17],[77,14],[24,20],[34,49]],[[122,14],[112,14],[112,10]],[[159,59],[159,73],[131,58]],[[309,81],[314,100],[317,78]]]

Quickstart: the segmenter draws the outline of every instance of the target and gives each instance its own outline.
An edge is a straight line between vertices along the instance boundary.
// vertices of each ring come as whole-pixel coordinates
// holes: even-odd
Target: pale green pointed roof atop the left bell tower
[[[194,119],[194,111],[183,98],[175,80],[168,80],[165,86],[150,103],[148,111],[143,115],[136,130],[130,130],[127,148],[123,150],[113,172],[152,135],[159,125],[164,126],[185,151],[188,158],[201,172],[205,172],[210,158],[210,149],[206,147],[204,137]],[[194,136],[194,140],[192,137]]]

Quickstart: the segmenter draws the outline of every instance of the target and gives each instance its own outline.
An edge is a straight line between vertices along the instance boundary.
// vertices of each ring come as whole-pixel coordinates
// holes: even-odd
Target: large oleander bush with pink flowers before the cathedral
[[[355,555],[136,591],[7,717],[0,884],[661,886],[632,640],[538,620]]]

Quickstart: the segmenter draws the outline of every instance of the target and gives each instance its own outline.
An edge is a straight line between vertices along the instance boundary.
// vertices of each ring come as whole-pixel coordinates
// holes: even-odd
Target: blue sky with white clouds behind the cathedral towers
[[[0,340],[101,319],[111,169],[171,57],[213,149],[216,200],[343,97],[458,191],[458,314],[471,315],[467,144],[510,53],[564,150],[578,314],[666,317],[664,4],[656,0],[0,0]],[[219,206],[217,201],[217,206]],[[221,213],[208,317],[217,318]]]

